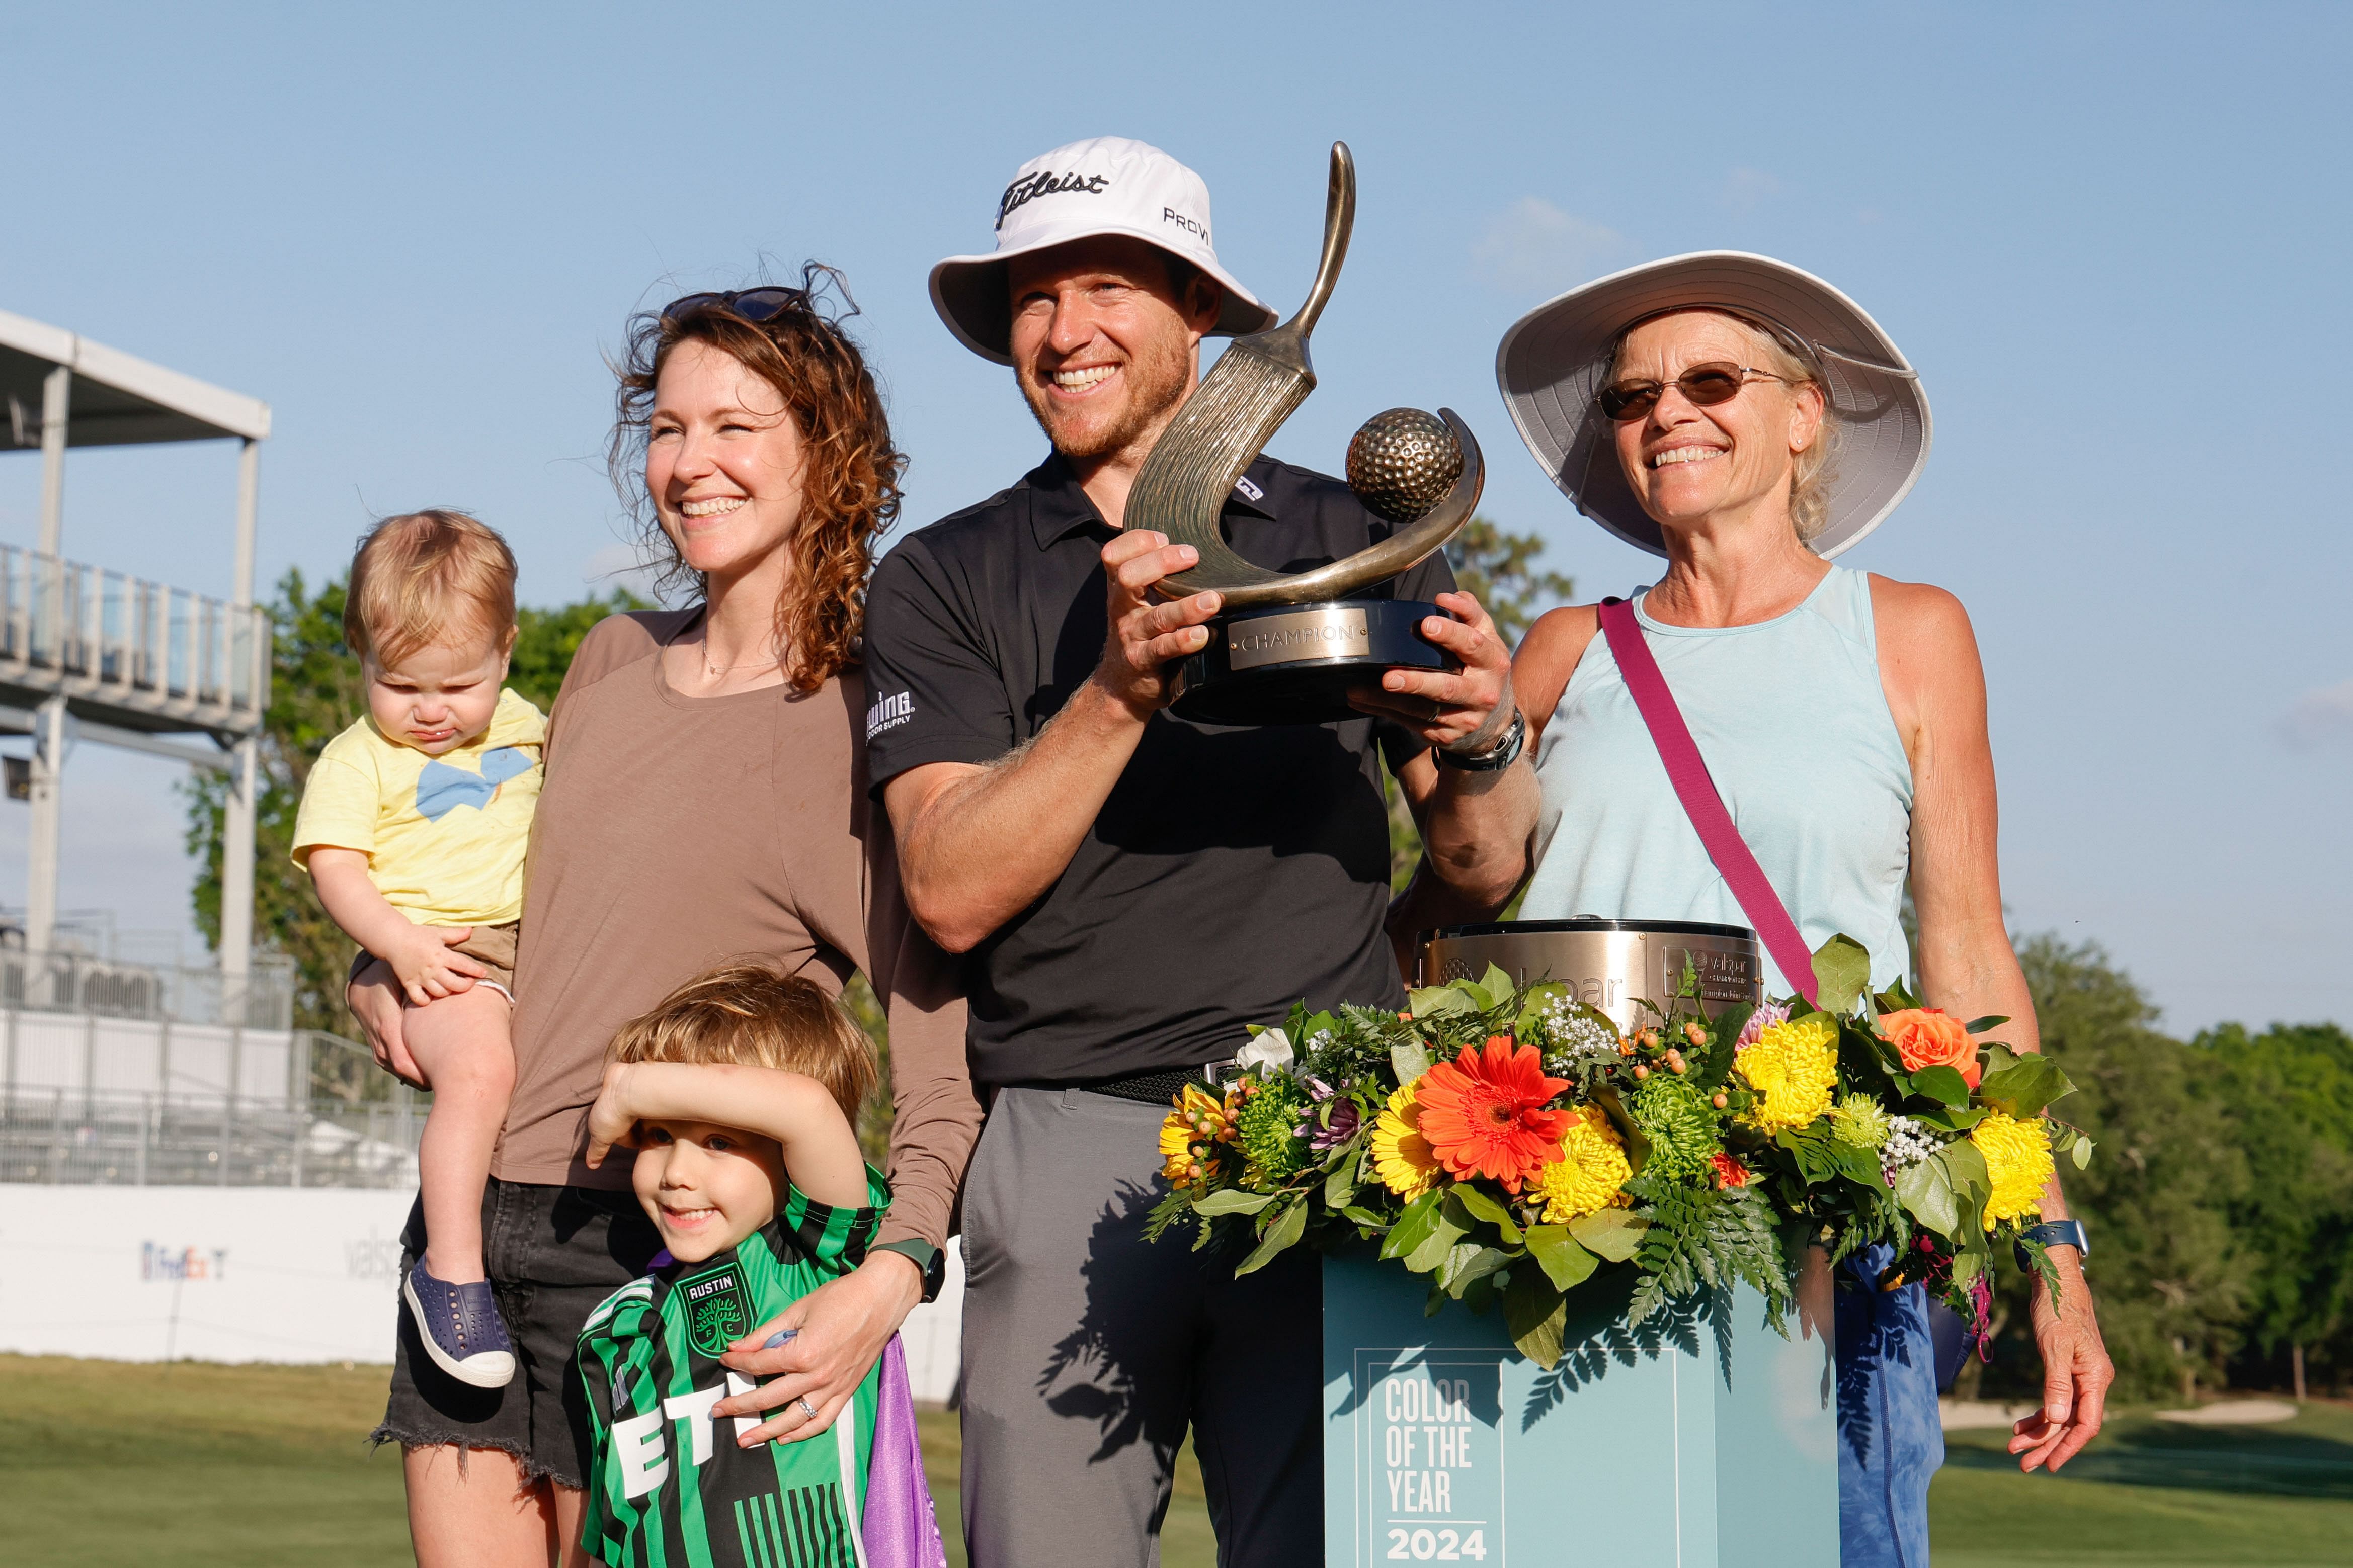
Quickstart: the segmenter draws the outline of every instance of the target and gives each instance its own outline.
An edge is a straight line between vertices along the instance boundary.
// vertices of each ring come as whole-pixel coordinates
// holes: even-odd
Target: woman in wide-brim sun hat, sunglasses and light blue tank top
[[[1958,1018],[2007,1016],[2035,1046],[2033,999],[2002,926],[1986,682],[1960,602],[1833,567],[1911,491],[1929,447],[1911,362],[1861,306],[1769,256],[1704,252],[1628,268],[1504,334],[1497,378],[1529,451],[1577,508],[1666,557],[1635,590],[1638,635],[1706,771],[1807,947],[1847,933],[1871,983],[1911,971]],[[1520,644],[1544,809],[1525,919],[1744,914],[1678,799],[1598,607],[1544,616]],[[1767,959],[1767,990],[1795,990]],[[2066,1206],[2057,1178],[2042,1218]],[[1944,1462],[1920,1286],[1875,1288],[1887,1248],[1838,1291],[1840,1561],[1927,1561],[1927,1483]],[[2080,1258],[2054,1246],[2061,1309],[2033,1286],[2042,1410],[2021,1465],[2059,1467],[2099,1432],[2113,1368]]]

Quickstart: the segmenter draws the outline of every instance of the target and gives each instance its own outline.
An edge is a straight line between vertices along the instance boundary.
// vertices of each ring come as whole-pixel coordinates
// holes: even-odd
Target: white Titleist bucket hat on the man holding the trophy
[[[998,249],[934,266],[932,306],[965,348],[1012,364],[1005,263],[1092,235],[1144,240],[1214,277],[1226,292],[1217,334],[1242,336],[1275,324],[1275,313],[1217,263],[1209,186],[1160,148],[1125,136],[1073,141],[1021,165],[998,197]]]

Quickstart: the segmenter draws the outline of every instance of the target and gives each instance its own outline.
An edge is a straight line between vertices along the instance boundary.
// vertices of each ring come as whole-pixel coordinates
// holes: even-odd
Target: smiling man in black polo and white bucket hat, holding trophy
[[[1141,141],[1026,162],[995,223],[991,254],[934,268],[932,299],[1014,369],[1054,451],[892,550],[866,607],[868,776],[908,905],[969,954],[991,1093],[962,1197],[965,1535],[974,1568],[1144,1568],[1191,1429],[1219,1561],[1320,1563],[1318,1262],[1292,1248],[1235,1279],[1233,1258],[1144,1241],[1160,1124],[1301,997],[1405,1004],[1381,769],[1449,877],[1475,884],[1475,858],[1447,856],[1471,823],[1525,839],[1534,783],[1497,743],[1508,649],[1431,557],[1386,590],[1454,616],[1424,635],[1459,675],[1393,672],[1337,724],[1167,712],[1219,595],[1155,599],[1195,552],[1122,531],[1127,489],[1200,341],[1273,313],[1219,263],[1200,176]],[[1285,571],[1388,527],[1266,456],[1224,522]]]

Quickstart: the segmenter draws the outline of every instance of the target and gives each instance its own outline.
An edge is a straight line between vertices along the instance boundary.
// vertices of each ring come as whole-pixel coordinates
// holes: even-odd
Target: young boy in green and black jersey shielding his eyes
[[[715,1420],[711,1406],[753,1387],[722,1354],[864,1260],[889,1204],[852,1131],[873,1086],[875,1051],[849,1016],[762,964],[689,980],[614,1037],[588,1164],[616,1143],[638,1152],[631,1185],[666,1251],[588,1314],[579,1340],[581,1547],[598,1561],[868,1566],[861,1521],[887,1359],[833,1432],[807,1441],[751,1439],[758,1420]],[[882,1420],[911,1448],[904,1368],[892,1399]],[[816,1415],[805,1399],[786,1413]],[[944,1561],[927,1495],[920,1509],[929,1542],[904,1561]]]

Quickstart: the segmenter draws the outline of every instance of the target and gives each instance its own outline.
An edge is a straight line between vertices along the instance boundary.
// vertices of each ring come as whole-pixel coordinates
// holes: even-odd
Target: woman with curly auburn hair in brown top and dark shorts
[[[904,458],[856,343],[821,306],[828,282],[812,268],[798,289],[689,294],[631,324],[614,480],[696,602],[600,623],[555,701],[515,964],[518,1081],[482,1215],[520,1375],[464,1387],[402,1321],[376,1432],[405,1450],[428,1568],[576,1561],[574,1340],[659,1248],[626,1150],[584,1164],[586,1117],[605,1041],[680,980],[734,954],[828,990],[864,969],[892,1025],[889,1215],[854,1274],[795,1305],[791,1345],[729,1356],[769,1380],[744,1401],[762,1425],[741,1441],[826,1432],[946,1244],[979,1126],[965,1011],[899,903],[889,823],[866,806],[859,682],[842,682]],[[376,971],[351,1001],[379,1060],[414,1077]],[[402,1241],[424,1251],[421,1218]]]

